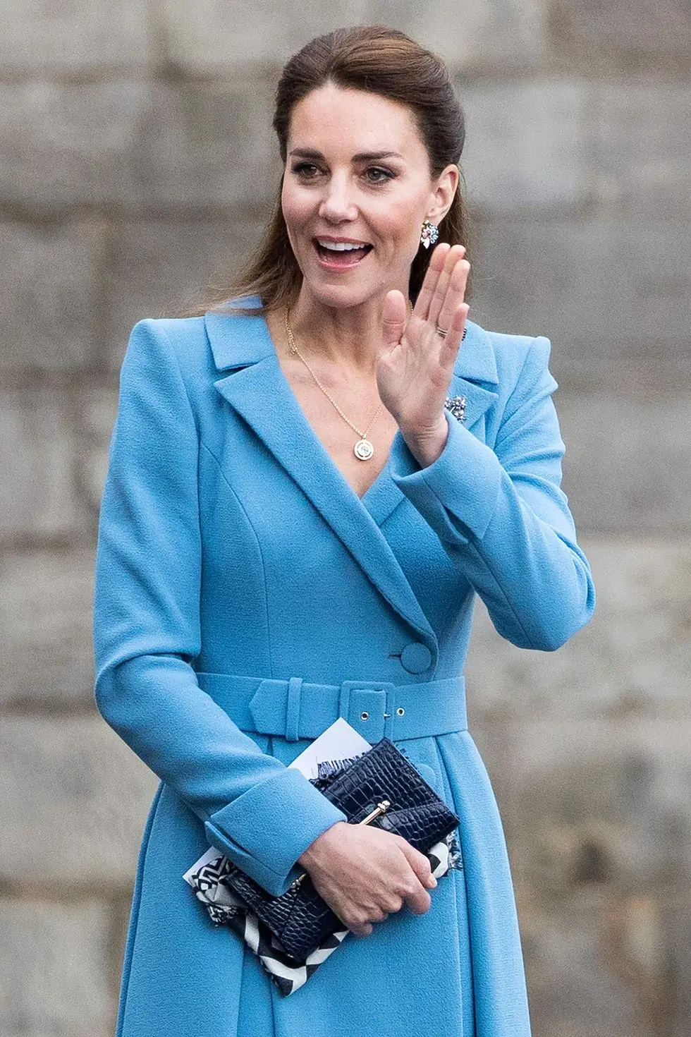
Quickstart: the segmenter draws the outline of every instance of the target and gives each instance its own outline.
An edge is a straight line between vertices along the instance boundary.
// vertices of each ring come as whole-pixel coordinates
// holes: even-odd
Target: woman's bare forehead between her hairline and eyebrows
[[[412,110],[378,93],[327,83],[299,101],[290,118],[288,150],[399,151],[411,161],[426,158]]]

